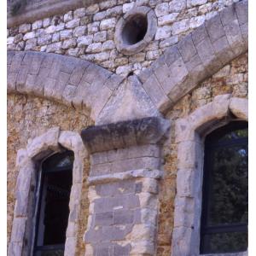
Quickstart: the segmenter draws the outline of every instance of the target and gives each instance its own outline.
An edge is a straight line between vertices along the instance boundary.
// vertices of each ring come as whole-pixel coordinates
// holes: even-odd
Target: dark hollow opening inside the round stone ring
[[[142,41],[148,30],[148,20],[145,15],[132,16],[124,26],[122,38],[125,44],[132,45]]]

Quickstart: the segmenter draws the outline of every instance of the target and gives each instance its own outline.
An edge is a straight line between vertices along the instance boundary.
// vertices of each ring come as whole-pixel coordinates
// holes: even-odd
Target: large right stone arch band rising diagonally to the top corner
[[[166,49],[139,79],[161,113],[247,51],[247,0],[233,3]]]

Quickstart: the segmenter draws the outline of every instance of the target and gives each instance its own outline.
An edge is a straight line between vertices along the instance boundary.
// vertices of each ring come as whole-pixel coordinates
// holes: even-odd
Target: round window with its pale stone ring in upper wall
[[[120,18],[115,30],[117,49],[124,55],[133,55],[144,49],[154,38],[157,20],[148,7],[136,7]]]

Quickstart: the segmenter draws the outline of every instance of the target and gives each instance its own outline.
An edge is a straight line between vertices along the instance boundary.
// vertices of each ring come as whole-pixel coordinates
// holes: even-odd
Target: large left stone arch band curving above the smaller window
[[[67,55],[8,51],[8,93],[45,97],[96,116],[123,80],[103,67]]]

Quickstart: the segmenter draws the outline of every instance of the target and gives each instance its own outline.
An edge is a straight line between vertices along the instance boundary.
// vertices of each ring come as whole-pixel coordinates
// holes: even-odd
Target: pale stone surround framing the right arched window
[[[212,102],[176,121],[178,162],[172,255],[199,255],[204,137],[226,125],[230,113],[237,119],[248,120],[247,99],[229,94],[215,96]],[[228,255],[246,256],[247,252]]]

